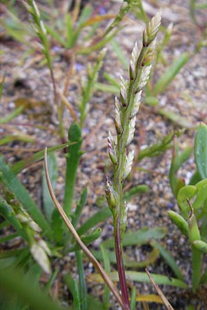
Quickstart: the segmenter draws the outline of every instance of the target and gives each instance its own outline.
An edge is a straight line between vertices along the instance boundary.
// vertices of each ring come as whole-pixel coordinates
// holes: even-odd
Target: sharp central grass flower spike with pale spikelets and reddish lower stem
[[[137,43],[132,51],[130,61],[130,80],[121,78],[121,103],[115,100],[115,127],[117,143],[112,134],[108,136],[108,153],[114,169],[114,183],[106,178],[106,198],[112,211],[115,235],[117,269],[121,287],[124,309],[130,309],[126,276],[122,254],[122,236],[126,228],[127,205],[123,202],[123,183],[130,173],[134,152],[126,153],[126,147],[132,141],[135,132],[135,118],[139,110],[141,90],[146,85],[150,74],[152,56],[155,52],[155,37],[159,30],[161,14],[158,13],[149,21],[143,34],[143,47],[139,53]]]

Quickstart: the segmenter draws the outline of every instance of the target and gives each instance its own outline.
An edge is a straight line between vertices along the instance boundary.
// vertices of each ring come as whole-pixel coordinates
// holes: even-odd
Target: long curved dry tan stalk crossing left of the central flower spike
[[[108,285],[110,291],[113,293],[113,295],[115,296],[117,302],[119,302],[121,308],[124,308],[124,304],[121,300],[121,296],[119,295],[117,289],[115,288],[112,280],[110,280],[110,278],[108,277],[108,274],[106,273],[106,271],[103,269],[103,267],[99,264],[99,262],[97,261],[97,259],[92,255],[92,253],[89,251],[88,247],[86,247],[86,245],[84,245],[84,243],[82,242],[81,238],[79,237],[79,235],[77,234],[77,231],[75,230],[75,228],[72,226],[72,223],[70,222],[70,220],[68,219],[68,216],[66,216],[66,213],[63,211],[63,208],[61,207],[61,205],[59,204],[57,198],[55,197],[55,194],[53,192],[52,189],[52,185],[50,183],[50,176],[48,174],[48,163],[47,163],[47,147],[45,149],[45,158],[44,158],[44,165],[45,165],[45,170],[46,170],[46,180],[47,180],[47,184],[48,184],[48,189],[50,192],[50,196],[52,198],[53,203],[55,204],[55,206],[57,207],[59,214],[61,215],[61,218],[63,218],[63,221],[66,223],[66,226],[68,227],[68,229],[70,230],[72,236],[75,238],[75,240],[79,243],[81,249],[83,250],[83,252],[86,254],[86,256],[88,256],[88,259],[90,260],[90,262],[92,262],[92,265],[95,267],[95,269],[97,270],[97,272],[99,273],[99,275],[103,278],[104,282],[106,283],[106,285]]]

